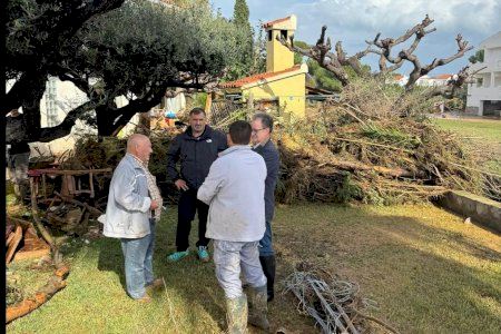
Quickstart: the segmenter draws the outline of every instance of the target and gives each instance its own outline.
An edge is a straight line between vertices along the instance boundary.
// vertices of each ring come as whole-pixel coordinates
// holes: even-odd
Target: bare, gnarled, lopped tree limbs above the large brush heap
[[[373,40],[366,40],[367,47],[356,52],[353,56],[346,55],[343,49],[342,42],[337,41],[334,51],[332,51],[331,38],[325,38],[326,26],[322,27],[321,36],[315,46],[308,48],[301,48],[294,43],[294,36],[289,39],[283,37],[277,37],[277,39],[289,50],[306,56],[315,60],[321,67],[325,68],[334,75],[334,77],[341,81],[343,86],[350,84],[350,77],[346,71],[346,67],[352,68],[358,76],[370,75],[367,70],[361,63],[361,59],[370,53],[379,55],[379,72],[372,73],[372,76],[384,77],[402,67],[404,61],[409,61],[413,65],[413,69],[409,76],[409,81],[405,84],[405,91],[410,91],[415,87],[419,78],[428,75],[430,71],[439,66],[446,65],[458,58],[461,58],[473,49],[473,47],[468,46],[468,41],[463,40],[463,37],[459,33],[455,37],[458,43],[458,51],[446,58],[435,58],[429,65],[423,65],[421,60],[414,55],[421,40],[429,33],[434,32],[435,28],[430,28],[434,20],[430,19],[428,16],[418,24],[405,31],[404,35],[397,38],[384,38],[381,39],[381,32],[375,36]],[[402,49],[396,56],[392,55],[392,50],[406,41],[412,37],[414,40],[411,46],[406,49]],[[471,73],[468,72],[469,67],[464,67],[455,75],[452,80],[448,82],[444,87],[438,87],[430,90],[431,96],[442,95],[444,97],[452,97],[454,92],[468,80]]]

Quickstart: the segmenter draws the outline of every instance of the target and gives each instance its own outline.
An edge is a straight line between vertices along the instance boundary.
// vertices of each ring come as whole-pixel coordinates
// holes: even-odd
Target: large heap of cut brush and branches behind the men
[[[304,119],[279,117],[277,198],[397,204],[449,189],[500,198],[495,176],[479,170],[456,137],[430,121],[435,99],[426,89],[403,92],[383,80],[351,82],[338,100]]]

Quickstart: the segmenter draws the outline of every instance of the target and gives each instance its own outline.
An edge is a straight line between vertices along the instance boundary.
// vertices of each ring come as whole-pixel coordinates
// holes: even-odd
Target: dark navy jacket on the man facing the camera
[[[226,135],[205,126],[204,134],[195,138],[191,127],[176,136],[167,153],[167,178],[170,181],[184,179],[188,187],[198,189],[208,175],[218,153],[227,148]],[[180,163],[180,173],[176,168]]]

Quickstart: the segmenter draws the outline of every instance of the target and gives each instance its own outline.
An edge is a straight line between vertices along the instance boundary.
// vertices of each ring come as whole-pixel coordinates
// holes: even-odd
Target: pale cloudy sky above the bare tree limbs
[[[224,17],[233,16],[235,0],[212,1],[214,9],[219,9]],[[415,52],[426,65],[435,57],[445,58],[456,52],[458,32],[477,48],[482,40],[501,31],[501,0],[247,0],[247,6],[253,27],[259,21],[296,14],[295,39],[308,43],[318,39],[322,26],[326,24],[333,45],[343,41],[348,55],[364,49],[365,40],[373,39],[377,32],[382,33],[381,38],[403,35],[428,13],[434,20],[430,27],[436,31],[425,36]],[[400,50],[395,47],[393,52]],[[430,75],[459,71],[474,51]],[[365,57],[363,61],[377,68],[375,56]],[[402,67],[400,72],[407,75],[410,69],[410,66]]]

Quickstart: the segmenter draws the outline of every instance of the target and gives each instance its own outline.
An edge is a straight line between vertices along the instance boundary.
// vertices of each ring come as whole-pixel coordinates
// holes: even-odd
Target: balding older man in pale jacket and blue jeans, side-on
[[[104,227],[105,236],[120,239],[127,293],[139,302],[150,302],[147,289],[163,284],[153,273],[155,220],[160,218],[161,196],[148,170],[150,154],[148,137],[129,137],[127,154],[109,186]]]

